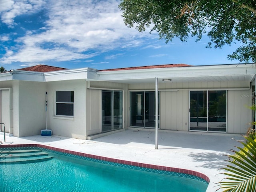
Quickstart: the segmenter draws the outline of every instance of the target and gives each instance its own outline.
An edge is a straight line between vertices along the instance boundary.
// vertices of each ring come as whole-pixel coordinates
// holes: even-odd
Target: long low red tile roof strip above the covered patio
[[[157,68],[168,68],[168,67],[189,67],[191,65],[187,64],[168,64],[168,65],[149,65],[141,67],[126,67],[126,68],[117,68],[117,69],[103,69],[98,71],[122,71],[122,70],[132,70],[132,69],[157,69]]]

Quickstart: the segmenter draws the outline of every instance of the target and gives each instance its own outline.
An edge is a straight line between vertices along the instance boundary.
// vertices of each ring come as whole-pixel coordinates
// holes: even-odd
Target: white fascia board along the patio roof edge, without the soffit
[[[154,77],[206,77],[206,76],[232,76],[247,75],[249,70],[255,71],[255,65],[204,65],[190,67],[171,67],[157,69],[135,69],[120,71],[98,71],[98,80],[118,79],[150,79]]]

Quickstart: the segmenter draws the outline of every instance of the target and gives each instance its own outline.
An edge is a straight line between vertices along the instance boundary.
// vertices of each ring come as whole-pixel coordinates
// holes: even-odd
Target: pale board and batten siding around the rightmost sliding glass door
[[[130,84],[129,90],[152,90],[154,83]],[[160,129],[188,131],[189,91],[227,89],[227,133],[246,133],[252,121],[249,81],[159,82]],[[164,90],[167,91],[164,91]],[[168,91],[168,89],[174,89]],[[176,90],[175,90],[176,89]],[[229,90],[234,89],[234,90]],[[162,90],[162,91],[161,91]]]

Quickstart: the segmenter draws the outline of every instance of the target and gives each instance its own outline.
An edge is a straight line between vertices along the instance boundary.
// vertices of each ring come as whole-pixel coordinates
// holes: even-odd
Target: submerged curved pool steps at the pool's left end
[[[24,164],[42,162],[52,159],[48,153],[42,150],[0,150],[0,164]]]

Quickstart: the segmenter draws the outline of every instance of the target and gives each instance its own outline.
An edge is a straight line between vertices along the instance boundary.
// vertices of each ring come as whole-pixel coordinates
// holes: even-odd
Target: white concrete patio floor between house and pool
[[[152,129],[127,129],[91,141],[36,135],[22,138],[6,136],[4,143],[4,135],[0,133],[3,144],[39,143],[120,160],[201,172],[210,178],[206,192],[218,189],[215,183],[224,177],[219,174],[223,171],[218,169],[226,164],[229,150],[240,145],[236,140],[242,139],[241,135],[236,134],[159,131],[158,149],[155,149],[155,133]]]

